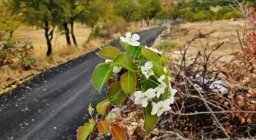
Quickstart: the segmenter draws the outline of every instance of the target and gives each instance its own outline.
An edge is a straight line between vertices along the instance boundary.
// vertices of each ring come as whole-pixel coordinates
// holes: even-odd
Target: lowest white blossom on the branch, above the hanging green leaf
[[[152,115],[160,117],[165,111],[171,110],[171,101],[166,99],[165,101],[159,101],[158,103],[152,102]]]

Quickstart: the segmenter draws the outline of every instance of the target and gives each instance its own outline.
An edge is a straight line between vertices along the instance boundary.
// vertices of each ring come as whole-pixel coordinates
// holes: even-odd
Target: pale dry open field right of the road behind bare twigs
[[[174,46],[180,48],[187,44],[198,33],[211,33],[210,39],[197,39],[190,44],[189,54],[197,54],[197,51],[202,49],[202,45],[209,42],[209,46],[215,48],[216,45],[224,42],[215,54],[229,55],[235,51],[241,51],[238,33],[242,38],[242,27],[245,25],[244,20],[220,20],[213,22],[197,22],[197,23],[184,23],[180,26],[174,26],[171,31],[166,31],[166,35],[155,42],[155,47],[165,44],[167,42],[174,43]],[[173,50],[175,51],[175,50]],[[178,53],[178,51],[176,52]],[[175,52],[174,52],[175,54]]]

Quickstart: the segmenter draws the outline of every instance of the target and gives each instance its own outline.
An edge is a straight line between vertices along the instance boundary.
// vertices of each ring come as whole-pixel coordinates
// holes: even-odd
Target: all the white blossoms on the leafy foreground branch
[[[120,40],[123,42],[126,42],[127,44],[136,47],[139,46],[139,35],[132,33],[126,33],[125,37],[120,37]],[[158,51],[157,48],[149,48],[148,46],[145,46],[145,48],[150,49],[151,51],[154,51],[157,54],[162,54],[162,51]],[[107,60],[106,60],[107,61]],[[113,72],[119,73],[122,67],[114,67]],[[151,61],[147,61],[144,66],[140,67],[142,75],[146,77],[146,79],[149,79],[151,76],[156,78],[153,71],[153,63]],[[167,67],[163,67],[163,70],[165,73],[168,73]],[[166,84],[166,78],[170,80],[170,77],[166,77],[165,75],[162,75],[157,78],[158,86],[153,89],[147,89],[146,91],[136,91],[134,92],[134,104],[142,104],[142,107],[147,107],[148,104],[152,105],[152,115],[157,115],[158,117],[161,116],[163,113],[165,113],[168,110],[171,110],[170,105],[174,104],[174,95],[176,94],[177,90],[172,89],[171,85]],[[168,99],[165,99],[164,101],[160,100],[160,97],[162,94],[165,93],[165,91],[171,92],[171,95]],[[160,101],[159,101],[160,100]]]

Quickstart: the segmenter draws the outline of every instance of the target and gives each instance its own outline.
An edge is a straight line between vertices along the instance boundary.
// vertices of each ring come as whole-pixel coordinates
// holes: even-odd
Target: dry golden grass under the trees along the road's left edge
[[[137,27],[137,25],[131,25],[130,27],[126,27],[126,30],[137,32],[140,30],[149,30],[150,28],[152,28],[152,26],[141,28]],[[56,67],[59,64],[93,51],[99,46],[107,44],[113,39],[117,39],[119,36],[123,35],[123,33],[117,33],[113,36],[113,39],[93,39],[90,42],[86,42],[90,33],[91,28],[80,24],[75,25],[75,36],[78,43],[77,48],[75,46],[68,47],[66,45],[66,36],[63,33],[60,33],[59,30],[55,30],[52,41],[53,54],[50,57],[46,57],[47,45],[46,39],[44,38],[44,30],[21,26],[14,32],[14,40],[33,43],[33,57],[37,59],[37,64],[33,69],[27,71],[13,69],[11,67],[0,68],[0,95],[15,88],[17,84],[32,78],[38,73],[42,73],[51,67]]]

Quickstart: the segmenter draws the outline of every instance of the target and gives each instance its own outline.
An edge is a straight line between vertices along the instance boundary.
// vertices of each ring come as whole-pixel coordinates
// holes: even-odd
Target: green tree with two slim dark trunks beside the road
[[[75,22],[85,23],[89,26],[93,26],[97,22],[99,17],[106,14],[108,8],[107,0],[59,0],[55,1],[57,6],[57,21],[59,29],[63,30],[66,35],[66,41],[68,45],[71,45],[72,36],[73,43],[77,46],[75,39]],[[69,25],[71,31],[69,31]]]

